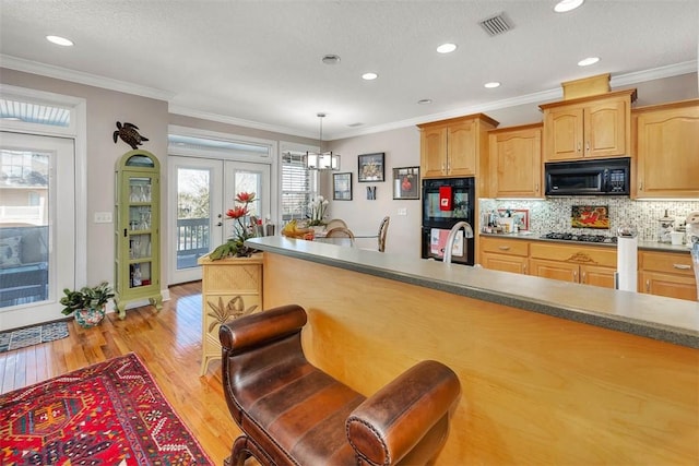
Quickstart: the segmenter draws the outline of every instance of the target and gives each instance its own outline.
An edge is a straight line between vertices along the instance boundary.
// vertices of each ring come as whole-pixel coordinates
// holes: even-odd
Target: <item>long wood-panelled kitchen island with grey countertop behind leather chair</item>
[[[438,465],[696,464],[699,303],[313,241],[265,252],[265,308],[309,314],[308,358],[371,394],[423,359],[462,399]]]

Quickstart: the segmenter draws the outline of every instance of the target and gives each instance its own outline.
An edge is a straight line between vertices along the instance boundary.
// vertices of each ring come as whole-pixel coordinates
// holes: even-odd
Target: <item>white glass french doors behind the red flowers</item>
[[[169,285],[201,279],[197,260],[233,232],[225,212],[237,193],[254,192],[249,205],[258,218],[270,215],[270,165],[199,157],[168,157]]]

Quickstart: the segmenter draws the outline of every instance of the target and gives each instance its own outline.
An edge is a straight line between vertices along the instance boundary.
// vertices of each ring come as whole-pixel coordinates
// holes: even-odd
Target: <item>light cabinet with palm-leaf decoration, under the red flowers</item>
[[[221,359],[221,323],[262,310],[262,253],[250,258],[212,261],[204,255],[202,266],[202,356],[201,375],[209,362]]]

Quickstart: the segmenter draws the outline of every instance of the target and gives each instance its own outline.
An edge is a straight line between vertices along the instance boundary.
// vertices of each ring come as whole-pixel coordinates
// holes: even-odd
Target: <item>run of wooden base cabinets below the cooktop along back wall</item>
[[[617,253],[611,246],[561,244],[487,235],[481,236],[479,243],[479,263],[485,268],[615,287]],[[696,300],[697,285],[689,250],[639,250],[638,291]]]

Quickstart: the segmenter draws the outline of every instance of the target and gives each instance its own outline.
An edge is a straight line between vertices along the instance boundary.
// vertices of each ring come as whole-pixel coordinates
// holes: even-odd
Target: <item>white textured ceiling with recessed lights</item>
[[[550,99],[561,82],[594,74],[614,83],[697,70],[699,0],[587,0],[564,14],[554,4],[0,0],[0,65],[308,138],[325,112],[324,140]],[[512,28],[490,37],[478,23],[501,12]],[[75,46],[51,45],[49,34]],[[437,53],[445,41],[459,48]],[[323,64],[329,53],[341,62]],[[577,65],[590,56],[601,61]],[[366,71],[379,79],[363,81]],[[502,85],[486,89],[488,81]],[[433,104],[417,104],[425,98]]]

